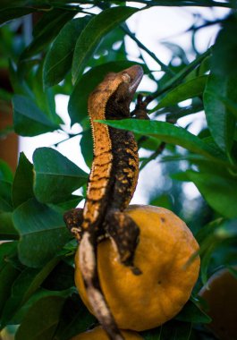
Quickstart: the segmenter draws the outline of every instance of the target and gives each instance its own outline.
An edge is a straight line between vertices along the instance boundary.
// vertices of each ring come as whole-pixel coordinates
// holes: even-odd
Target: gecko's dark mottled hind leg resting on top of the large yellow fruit
[[[106,232],[114,241],[123,265],[130,267],[134,275],[140,275],[140,269],[134,265],[140,235],[138,225],[128,214],[111,210],[106,216]]]

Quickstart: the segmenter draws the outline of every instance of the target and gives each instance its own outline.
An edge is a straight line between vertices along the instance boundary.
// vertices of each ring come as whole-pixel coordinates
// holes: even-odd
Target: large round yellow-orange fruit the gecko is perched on
[[[106,301],[118,327],[145,330],[172,319],[185,302],[199,276],[199,256],[187,265],[199,245],[190,229],[172,211],[131,205],[125,210],[140,227],[135,276],[123,266],[110,240],[97,248],[97,269]],[[91,310],[75,256],[75,283],[82,301]]]

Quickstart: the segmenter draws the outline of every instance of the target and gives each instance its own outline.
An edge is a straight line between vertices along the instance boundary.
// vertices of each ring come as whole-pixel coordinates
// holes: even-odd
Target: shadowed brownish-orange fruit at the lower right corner
[[[207,327],[218,339],[237,339],[237,279],[227,269],[218,270],[199,295],[207,302],[207,314],[212,318]]]

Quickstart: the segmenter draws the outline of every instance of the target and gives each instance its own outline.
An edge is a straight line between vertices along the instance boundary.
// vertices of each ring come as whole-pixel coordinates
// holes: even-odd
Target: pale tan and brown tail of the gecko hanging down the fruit
[[[91,241],[89,233],[85,232],[80,241],[79,256],[80,270],[89,298],[89,304],[98,321],[105,328],[109,338],[111,340],[124,340],[99,285],[95,244],[95,242]]]

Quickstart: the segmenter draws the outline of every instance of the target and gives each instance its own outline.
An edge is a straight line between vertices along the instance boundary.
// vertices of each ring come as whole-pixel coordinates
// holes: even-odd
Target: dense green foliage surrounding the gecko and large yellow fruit
[[[2,1],[0,66],[8,69],[13,91],[0,88],[0,100],[1,104],[12,101],[13,129],[19,135],[62,131],[71,139],[73,133],[64,131],[55,110],[55,96],[69,95],[68,113],[72,125],[80,123],[82,127],[80,149],[90,165],[90,91],[107,72],[141,64],[157,84],[156,91],[140,94],[153,98],[155,105],[148,110],[152,119],[106,123],[135,132],[140,149],[148,155],[140,159],[141,169],[156,158],[162,161],[161,176],[168,181],[169,190],[165,184],[156,190],[154,184],[149,203],[171,208],[187,221],[199,241],[202,259],[190,302],[176,318],[142,336],[146,340],[215,339],[203,327],[210,319],[199,309],[196,293],[216,268],[232,268],[237,262],[236,2],[137,0],[136,4],[131,7],[130,1],[115,0]],[[167,42],[173,57],[163,64],[158,52],[148,50],[146,42],[136,38],[125,23],[131,15],[161,5],[218,6],[230,12],[222,20],[204,21],[201,28],[195,23],[190,27],[195,37],[200,29],[219,25],[215,44],[207,51],[199,54],[193,46],[194,57],[189,62],[182,47]],[[36,23],[26,44],[22,18],[32,16]],[[136,63],[126,50],[126,37],[140,48]],[[142,51],[154,59],[157,70],[149,69]],[[157,76],[158,70],[162,72]],[[189,104],[180,106],[186,99]],[[207,125],[198,135],[189,132],[189,126],[176,124],[182,117],[199,116],[202,111]],[[166,122],[160,121],[161,116]],[[0,132],[1,136],[9,131]],[[63,223],[63,212],[83,199],[73,192],[83,189],[87,177],[56,149],[36,149],[33,163],[21,153],[15,174],[1,160],[0,239],[12,242],[0,244],[0,327],[12,327],[17,340],[68,340],[95,322],[74,287],[76,243]],[[194,183],[199,199],[185,198],[183,183]]]

